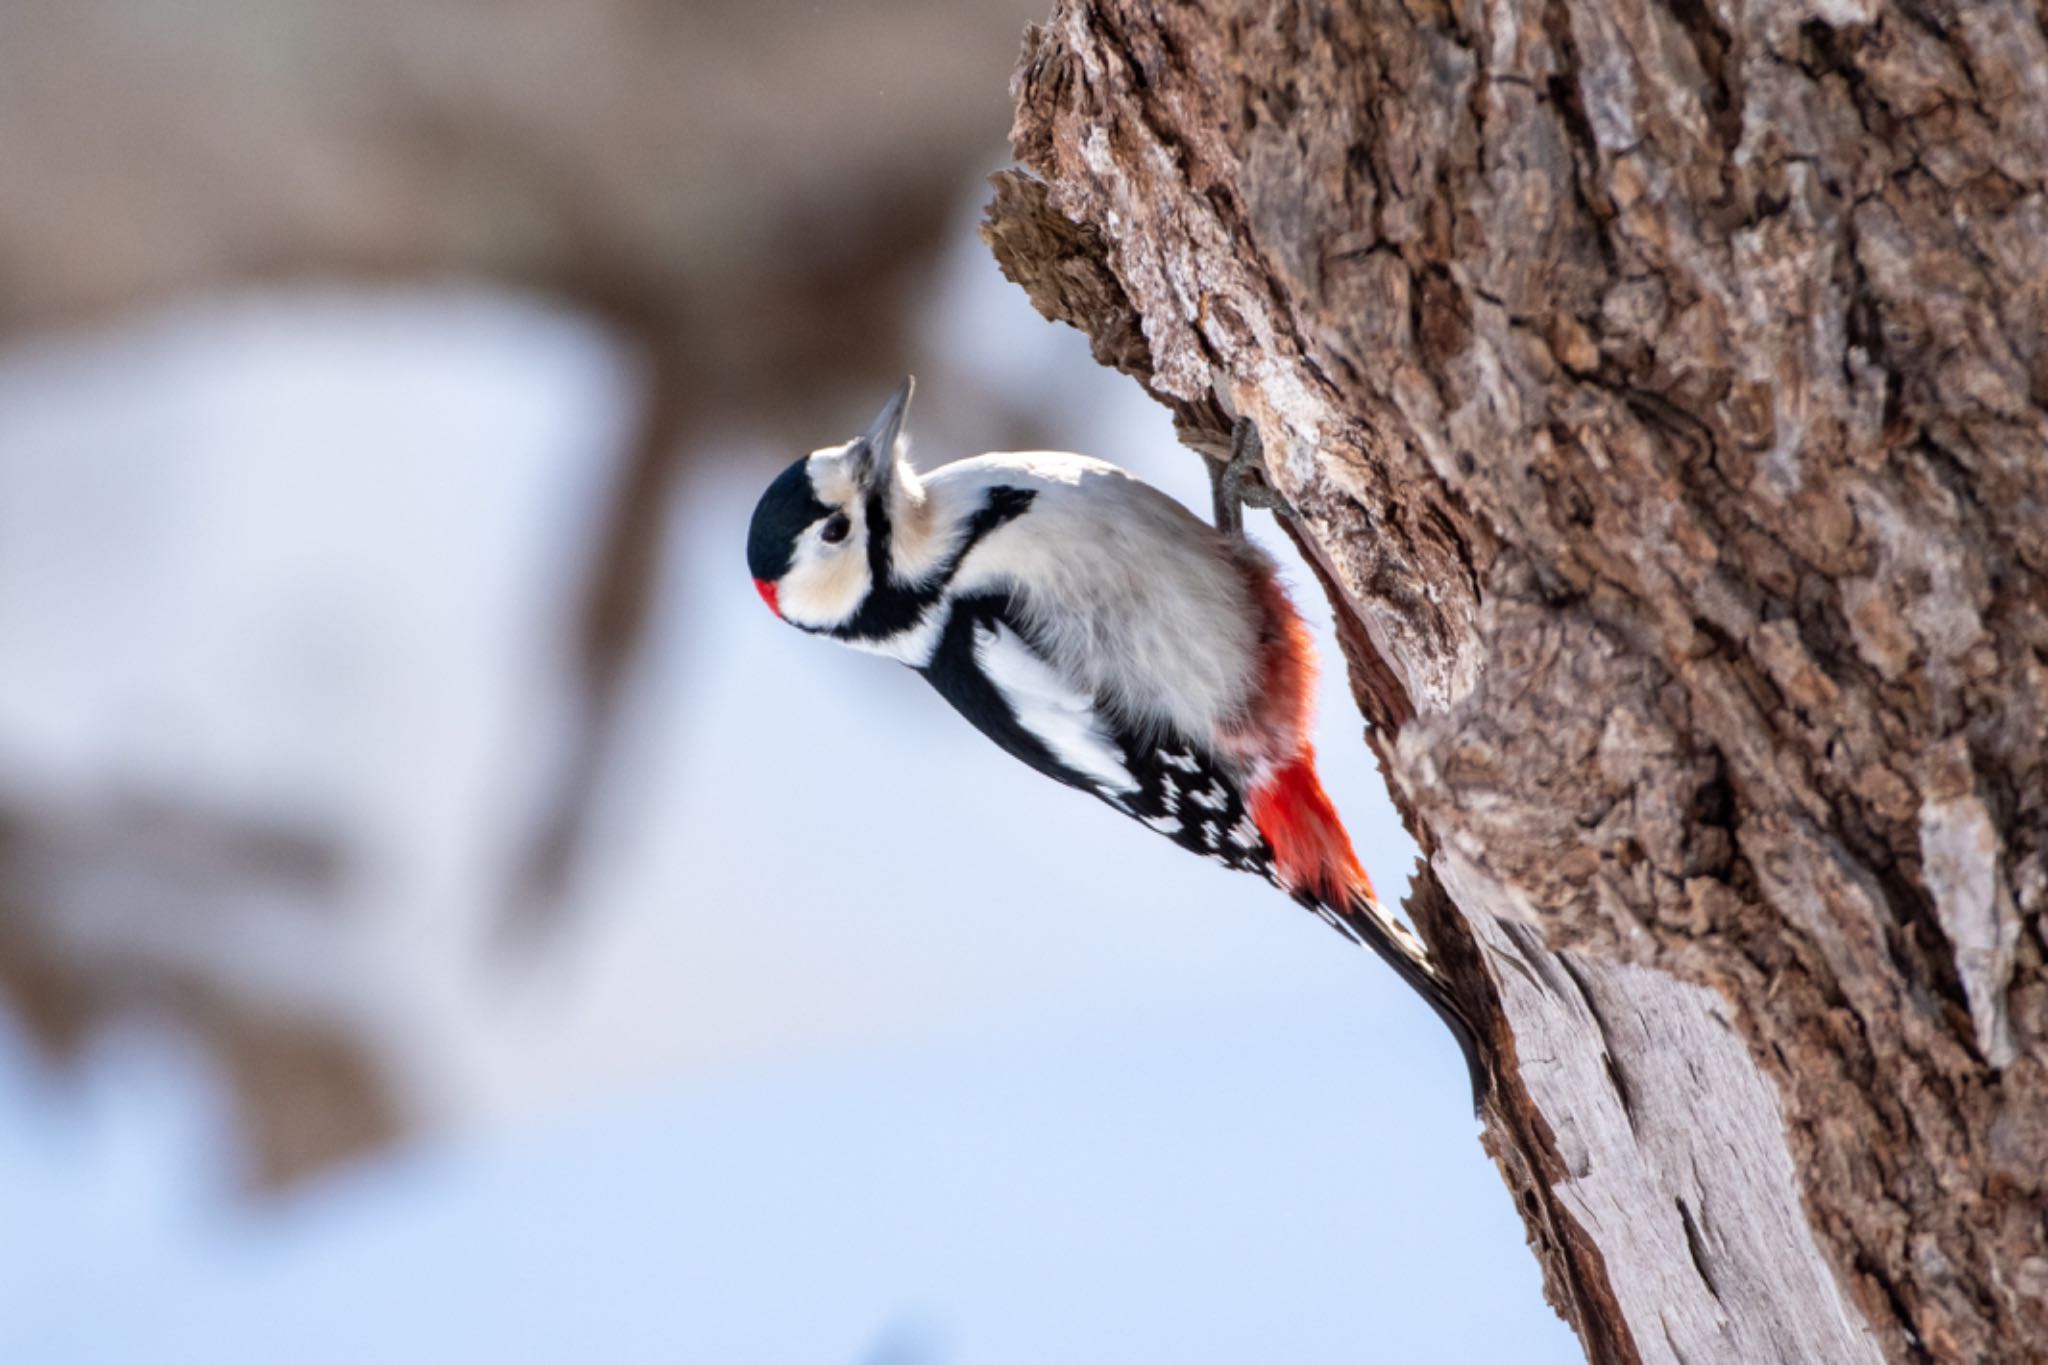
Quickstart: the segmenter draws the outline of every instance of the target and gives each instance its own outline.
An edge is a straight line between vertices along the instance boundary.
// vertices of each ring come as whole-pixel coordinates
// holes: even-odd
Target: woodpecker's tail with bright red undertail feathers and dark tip
[[[1450,982],[1430,960],[1430,950],[1372,892],[1352,839],[1315,776],[1313,751],[1303,747],[1300,755],[1251,792],[1251,819],[1274,849],[1282,884],[1337,933],[1376,952],[1458,1040],[1477,1111],[1491,1085],[1479,1052],[1479,1031],[1452,999]]]

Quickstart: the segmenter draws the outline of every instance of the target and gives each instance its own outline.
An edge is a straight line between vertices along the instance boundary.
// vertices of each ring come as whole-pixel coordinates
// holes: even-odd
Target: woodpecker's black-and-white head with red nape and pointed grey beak
[[[915,495],[903,463],[905,379],[862,436],[803,456],[768,485],[748,528],[754,587],[805,630],[846,626],[889,573],[891,524]]]

